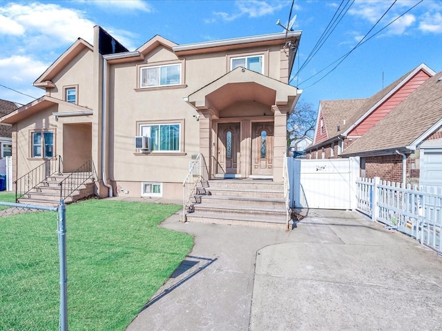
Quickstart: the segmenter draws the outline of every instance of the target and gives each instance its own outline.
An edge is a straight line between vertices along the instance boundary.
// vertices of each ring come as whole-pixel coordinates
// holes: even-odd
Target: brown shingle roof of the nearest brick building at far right
[[[442,72],[427,79],[342,155],[414,149],[442,126]]]

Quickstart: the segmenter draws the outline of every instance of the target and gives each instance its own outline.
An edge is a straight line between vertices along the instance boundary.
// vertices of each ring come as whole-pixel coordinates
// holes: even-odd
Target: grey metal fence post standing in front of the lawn
[[[58,208],[58,247],[60,259],[60,331],[68,331],[68,273],[66,268],[66,205]]]

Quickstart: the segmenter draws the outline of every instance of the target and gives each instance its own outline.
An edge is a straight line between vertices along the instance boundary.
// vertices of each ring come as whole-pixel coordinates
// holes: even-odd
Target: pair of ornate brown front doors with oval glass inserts
[[[250,174],[271,176],[273,174],[273,122],[251,124]],[[218,166],[226,174],[240,174],[241,158],[240,123],[218,124]],[[248,153],[247,153],[248,154]]]

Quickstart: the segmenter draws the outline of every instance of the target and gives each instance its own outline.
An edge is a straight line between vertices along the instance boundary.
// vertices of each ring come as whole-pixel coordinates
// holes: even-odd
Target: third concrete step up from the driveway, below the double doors
[[[242,205],[249,207],[285,208],[285,200],[282,198],[267,197],[232,197],[224,195],[203,195],[200,197],[201,203],[211,205]],[[247,206],[247,207],[246,207]]]

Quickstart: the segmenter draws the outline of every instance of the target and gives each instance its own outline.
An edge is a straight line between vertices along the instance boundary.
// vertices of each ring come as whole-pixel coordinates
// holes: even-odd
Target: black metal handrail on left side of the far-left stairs
[[[18,202],[21,197],[24,197],[30,190],[43,183],[48,177],[53,174],[61,174],[62,163],[61,156],[55,155],[55,157],[44,161],[37,168],[30,170],[30,172],[23,174],[17,181],[14,181],[15,202]]]

